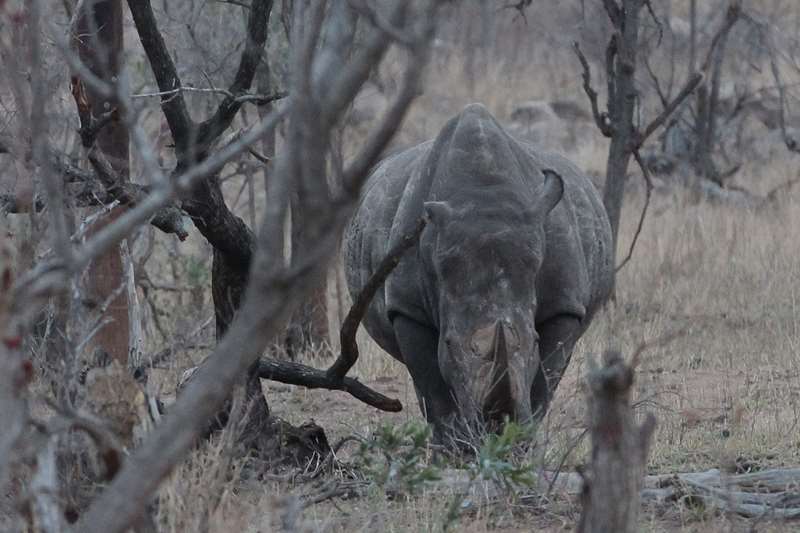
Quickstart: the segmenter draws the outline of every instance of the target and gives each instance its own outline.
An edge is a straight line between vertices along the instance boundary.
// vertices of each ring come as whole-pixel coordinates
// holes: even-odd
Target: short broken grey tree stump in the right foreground
[[[587,378],[592,459],[583,473],[578,532],[634,533],[655,417],[636,424],[630,405],[633,369],[619,353],[607,352],[604,359]]]

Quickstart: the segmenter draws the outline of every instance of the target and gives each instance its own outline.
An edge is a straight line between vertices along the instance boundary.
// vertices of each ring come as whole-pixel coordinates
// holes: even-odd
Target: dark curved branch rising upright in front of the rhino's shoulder
[[[389,274],[400,264],[400,259],[403,257],[403,254],[419,242],[419,237],[422,235],[422,230],[425,229],[427,222],[425,218],[419,219],[413,231],[405,235],[391,250],[389,250],[386,257],[383,258],[378,268],[375,269],[375,272],[356,297],[353,306],[350,308],[350,311],[347,313],[342,323],[339,337],[341,353],[326,372],[330,380],[336,381],[344,379],[350,369],[353,368],[353,365],[356,364],[356,361],[358,361],[358,343],[356,343],[358,325],[364,318],[364,313],[367,312],[367,308],[375,297],[375,293],[384,284]]]

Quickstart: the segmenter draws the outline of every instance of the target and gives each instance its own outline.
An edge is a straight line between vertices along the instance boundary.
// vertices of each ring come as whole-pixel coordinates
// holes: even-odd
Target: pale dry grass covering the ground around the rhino
[[[558,66],[571,65],[570,61],[569,50],[562,47],[531,59],[525,68],[494,62],[480,70],[472,86],[464,82],[463,57],[456,54],[439,61],[398,142],[434,135],[447,118],[472,101],[484,102],[500,118],[508,116],[513,103],[534,97],[567,95],[584,103],[576,68]],[[584,169],[601,174],[606,148],[605,140],[595,135],[568,155]],[[780,153],[766,164],[746,166],[737,182],[763,193],[794,177],[796,161]],[[226,186],[231,194],[239,189],[237,180]],[[680,191],[654,197],[633,259],[619,274],[617,302],[596,318],[578,344],[532,457],[551,468],[562,462],[571,468],[585,460],[580,383],[587,357],[610,346],[630,354],[644,341],[678,333],[671,342],[648,349],[638,372],[638,409],[652,411],[658,418],[650,471],[800,464],[796,356],[800,242],[792,231],[800,226],[800,205],[794,195],[785,196],[759,212],[693,204]],[[631,194],[622,227],[626,249],[641,203],[639,195]],[[207,261],[202,245],[189,246]],[[186,248],[182,245],[184,256]],[[154,278],[160,273],[166,279],[172,275],[179,279],[182,273],[170,273],[167,264],[156,260],[148,270],[152,267]],[[189,267],[184,262],[182,268]],[[346,305],[342,287],[341,280],[329,283],[333,326],[341,321]],[[186,333],[200,317],[210,315],[210,298],[207,292],[182,298],[179,305],[184,308],[193,302],[192,317],[183,315],[183,323],[173,326]],[[360,344],[362,356],[352,374],[398,397],[403,412],[379,413],[343,393],[265,383],[273,412],[294,424],[315,420],[331,442],[351,434],[368,436],[387,422],[419,420],[413,386],[402,365],[366,336],[360,337]],[[199,355],[195,353],[194,359]],[[319,367],[330,363],[319,355],[306,359]],[[175,372],[187,363],[176,362],[176,370],[162,377],[166,392]],[[390,500],[372,490],[359,498],[312,505],[298,514],[294,496],[319,487],[254,478],[241,460],[233,459],[228,433],[196,451],[162,489],[159,520],[164,531],[271,531],[287,521],[309,531],[441,529],[451,500],[447,494]],[[353,449],[345,448],[340,458],[350,459]],[[534,503],[504,501],[466,511],[454,530],[570,530],[577,512],[574,501],[558,497]],[[766,520],[757,524],[759,531],[797,527]],[[642,517],[642,530],[654,532],[755,528],[751,522],[683,504],[646,509]]]

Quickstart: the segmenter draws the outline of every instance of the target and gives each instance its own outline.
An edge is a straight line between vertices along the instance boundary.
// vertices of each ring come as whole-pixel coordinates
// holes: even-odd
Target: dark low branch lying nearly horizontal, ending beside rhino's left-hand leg
[[[258,363],[258,374],[261,379],[300,385],[308,389],[344,391],[381,411],[396,413],[403,409],[403,404],[399,400],[384,396],[355,378],[331,377],[323,370],[300,363],[262,358]]]

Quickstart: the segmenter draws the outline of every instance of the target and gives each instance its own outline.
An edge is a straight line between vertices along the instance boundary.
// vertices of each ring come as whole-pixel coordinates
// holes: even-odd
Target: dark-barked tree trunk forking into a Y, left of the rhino
[[[136,30],[145,49],[150,66],[161,91],[181,86],[175,64],[158,29],[149,1],[129,0]],[[181,93],[162,99],[162,109],[175,140],[178,165],[176,174],[205,159],[219,136],[231,125],[242,102],[236,97],[248,91],[262,61],[267,41],[272,0],[254,0],[247,10],[247,41],[226,97],[214,114],[196,124],[189,117]],[[255,248],[255,236],[247,224],[228,208],[217,174],[202,179],[181,207],[192,218],[203,237],[214,248],[211,292],[217,340],[222,339],[236,315],[248,282],[250,263]],[[248,436],[265,433],[270,413],[261,392],[258,365],[251,365],[246,379],[246,398],[249,403]],[[228,409],[218,413],[224,422]]]

